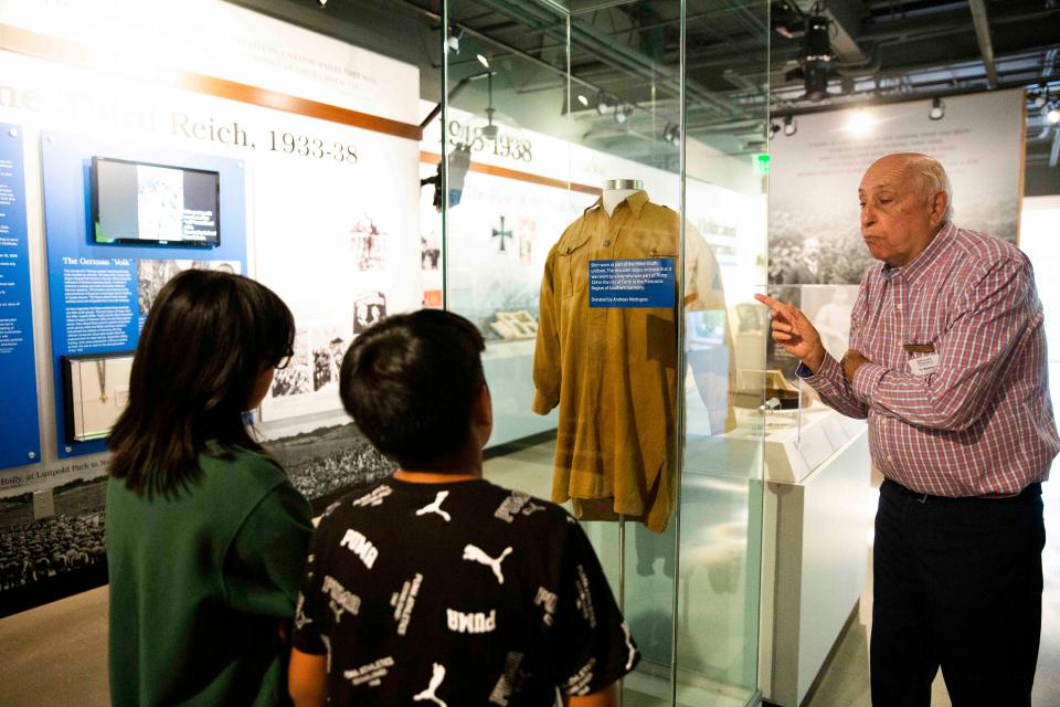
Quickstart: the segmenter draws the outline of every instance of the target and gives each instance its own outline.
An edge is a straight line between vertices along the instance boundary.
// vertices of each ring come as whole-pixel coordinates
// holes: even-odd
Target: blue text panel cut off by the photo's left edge
[[[22,130],[0,123],[0,467],[41,458]]]

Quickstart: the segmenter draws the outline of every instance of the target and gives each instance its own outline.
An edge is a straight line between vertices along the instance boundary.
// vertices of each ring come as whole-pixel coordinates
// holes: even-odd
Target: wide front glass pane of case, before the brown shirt
[[[669,704],[681,7],[446,8],[446,150],[470,151],[446,297],[488,339],[486,475],[583,519],[644,654],[626,704]]]

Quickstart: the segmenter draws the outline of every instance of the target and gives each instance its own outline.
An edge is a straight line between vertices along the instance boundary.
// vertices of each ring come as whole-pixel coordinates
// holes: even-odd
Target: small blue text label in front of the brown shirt
[[[672,257],[589,262],[590,307],[654,309],[676,300]]]

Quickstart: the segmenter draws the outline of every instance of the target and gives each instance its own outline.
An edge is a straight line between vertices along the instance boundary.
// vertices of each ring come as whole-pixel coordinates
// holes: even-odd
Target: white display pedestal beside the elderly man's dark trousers
[[[861,595],[871,527],[865,424],[836,413],[810,422],[806,412],[799,447],[775,433],[765,444],[759,683],[782,707],[802,704]],[[812,450],[840,432],[846,441],[802,475],[814,429]]]

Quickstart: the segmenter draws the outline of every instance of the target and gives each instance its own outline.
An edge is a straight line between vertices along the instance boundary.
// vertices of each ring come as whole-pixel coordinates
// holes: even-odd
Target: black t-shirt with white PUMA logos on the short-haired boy
[[[577,521],[486,481],[386,478],[309,551],[294,645],[328,655],[331,705],[544,707],[640,657]]]

